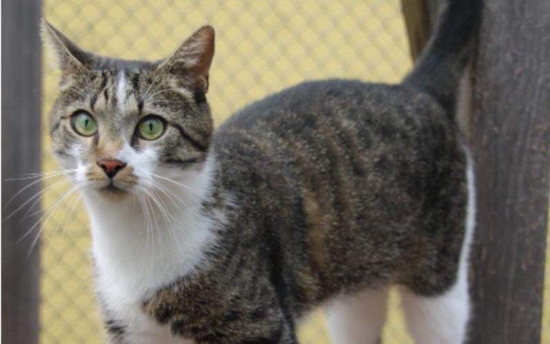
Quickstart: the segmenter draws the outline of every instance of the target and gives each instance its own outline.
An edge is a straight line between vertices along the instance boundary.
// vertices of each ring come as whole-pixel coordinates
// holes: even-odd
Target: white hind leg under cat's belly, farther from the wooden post
[[[377,344],[386,321],[388,288],[338,297],[326,307],[333,344]]]

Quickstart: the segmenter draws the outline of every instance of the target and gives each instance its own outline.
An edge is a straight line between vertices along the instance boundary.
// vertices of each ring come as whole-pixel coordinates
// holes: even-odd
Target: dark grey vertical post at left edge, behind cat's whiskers
[[[41,1],[2,1],[2,208],[28,184],[5,181],[41,167]],[[39,191],[39,185],[30,188]],[[17,201],[17,200],[16,200]],[[21,204],[21,202],[19,202]],[[10,209],[17,208],[16,204]],[[19,212],[2,224],[2,343],[38,343],[39,250],[34,235],[16,244],[29,222]],[[2,211],[4,219],[9,209]],[[36,232],[35,232],[36,233]],[[33,233],[34,234],[34,233]]]

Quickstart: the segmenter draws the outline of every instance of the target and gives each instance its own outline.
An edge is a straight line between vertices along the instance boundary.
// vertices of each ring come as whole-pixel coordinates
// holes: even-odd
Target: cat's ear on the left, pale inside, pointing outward
[[[43,45],[52,53],[56,67],[61,70],[61,83],[87,70],[91,54],[72,43],[45,19],[41,21],[41,37]]]

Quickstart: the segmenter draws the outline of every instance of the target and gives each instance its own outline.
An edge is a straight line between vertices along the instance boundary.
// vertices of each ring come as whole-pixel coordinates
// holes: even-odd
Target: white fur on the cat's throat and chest
[[[115,321],[124,325],[128,343],[193,343],[144,314],[142,302],[204,263],[204,250],[214,241],[213,220],[199,211],[210,185],[208,170],[187,180],[192,191],[157,180],[169,192],[155,193],[156,201],[143,194],[141,200],[136,196],[115,204],[85,195],[96,288]]]

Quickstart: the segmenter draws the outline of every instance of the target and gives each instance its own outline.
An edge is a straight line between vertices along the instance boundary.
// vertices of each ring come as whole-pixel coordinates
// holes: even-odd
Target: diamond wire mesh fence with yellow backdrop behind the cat
[[[215,125],[303,80],[397,82],[411,66],[399,0],[43,0],[43,15],[83,49],[131,59],[166,57],[201,25],[213,25],[217,42],[208,99]],[[57,74],[47,59],[43,71],[45,118]],[[47,128],[43,147],[43,170],[56,171]],[[88,220],[70,187],[54,175],[43,184],[40,339],[102,343]],[[389,308],[384,343],[412,343],[395,294]],[[329,343],[322,312],[300,326],[300,342]]]

